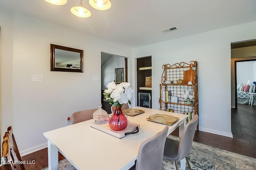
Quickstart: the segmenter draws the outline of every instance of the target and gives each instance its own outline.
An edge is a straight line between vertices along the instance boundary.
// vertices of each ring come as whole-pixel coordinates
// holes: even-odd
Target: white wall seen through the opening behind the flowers
[[[101,74],[103,77],[102,80],[102,89],[105,90],[108,83],[115,80],[115,68],[124,68],[123,71],[123,80],[125,80],[125,61],[124,57],[113,55],[106,63],[101,67]]]

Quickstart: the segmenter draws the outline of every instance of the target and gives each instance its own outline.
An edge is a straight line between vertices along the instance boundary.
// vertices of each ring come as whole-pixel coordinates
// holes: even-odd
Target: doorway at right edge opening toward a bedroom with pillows
[[[256,105],[249,105],[248,99],[241,99],[240,94],[238,94],[239,92],[237,92],[239,91],[237,90],[237,85],[240,84],[238,82],[242,82],[242,84],[249,82],[251,84],[253,81],[256,81],[256,77],[251,73],[253,71],[250,71],[250,75],[252,74],[252,76],[248,76],[249,73],[246,73],[246,66],[241,67],[241,63],[246,64],[246,62],[256,61],[256,54],[252,53],[251,49],[256,49],[255,40],[231,44],[231,131],[234,138],[255,143]],[[239,74],[242,74],[242,78],[241,76],[238,77]]]

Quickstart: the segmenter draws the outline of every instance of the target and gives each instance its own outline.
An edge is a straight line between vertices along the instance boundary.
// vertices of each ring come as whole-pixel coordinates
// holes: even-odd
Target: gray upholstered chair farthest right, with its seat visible
[[[178,170],[178,160],[186,158],[188,167],[191,170],[191,166],[188,162],[188,154],[192,148],[192,143],[196,131],[196,125],[198,123],[198,115],[195,114],[194,118],[186,124],[183,129],[180,141],[175,141],[173,139],[167,138],[164,146],[164,158],[168,160],[174,160],[176,165],[176,170]]]

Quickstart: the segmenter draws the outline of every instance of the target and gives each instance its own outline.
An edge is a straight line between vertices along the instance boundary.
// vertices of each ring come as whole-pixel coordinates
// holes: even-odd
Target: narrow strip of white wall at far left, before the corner
[[[1,141],[8,125],[13,125],[12,61],[14,14],[0,8],[0,57],[1,57]]]

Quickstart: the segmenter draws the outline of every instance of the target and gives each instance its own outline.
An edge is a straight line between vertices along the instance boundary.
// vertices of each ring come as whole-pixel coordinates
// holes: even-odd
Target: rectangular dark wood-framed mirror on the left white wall
[[[84,51],[50,44],[51,71],[83,72]]]

